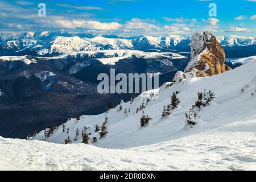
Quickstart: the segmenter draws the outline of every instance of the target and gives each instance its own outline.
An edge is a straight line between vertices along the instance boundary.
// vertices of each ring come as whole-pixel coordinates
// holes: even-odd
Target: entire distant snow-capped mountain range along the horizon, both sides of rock
[[[219,36],[222,46],[253,46],[255,38],[241,36]],[[65,32],[26,32],[22,34],[0,34],[1,55],[34,54],[56,55],[76,51],[95,51],[102,49],[133,49],[141,51],[189,52],[190,38],[187,36],[133,36],[96,35],[86,32],[77,34]],[[9,50],[9,51],[6,51]],[[33,53],[32,53],[33,54]]]

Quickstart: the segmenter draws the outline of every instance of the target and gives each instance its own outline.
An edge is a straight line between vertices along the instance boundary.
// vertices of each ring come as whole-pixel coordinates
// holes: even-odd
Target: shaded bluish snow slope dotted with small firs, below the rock
[[[185,115],[197,100],[197,92],[212,90],[216,94],[216,98],[209,106],[204,107],[199,112],[199,123],[193,129],[185,129]],[[243,92],[241,91],[243,89]],[[204,78],[188,78],[181,82],[177,82],[172,86],[163,85],[160,89],[149,90],[135,98],[132,103],[126,102],[122,104],[122,110],[118,111],[119,105],[108,113],[100,115],[82,115],[79,122],[71,119],[65,123],[66,130],[63,132],[59,127],[53,135],[46,138],[48,142],[64,143],[65,138],[71,138],[72,143],[81,143],[81,131],[84,127],[90,127],[86,130],[92,133],[90,138],[99,137],[98,133],[94,133],[94,126],[101,126],[105,117],[108,119],[108,137],[99,139],[96,146],[106,148],[126,148],[136,147],[146,144],[163,142],[175,138],[184,137],[193,133],[201,133],[221,128],[224,125],[235,125],[236,122],[253,121],[251,127],[255,127],[256,121],[256,97],[251,96],[256,89],[256,61],[251,61],[242,67],[232,71]],[[177,97],[180,98],[180,105],[173,110],[167,119],[161,119],[164,105],[170,104],[172,92],[179,90]],[[151,93],[154,92],[154,97]],[[146,104],[146,100],[151,101]],[[144,101],[143,101],[144,100]],[[144,102],[145,114],[152,119],[147,127],[140,127],[140,118],[142,111],[137,111]],[[239,104],[238,104],[239,103]],[[125,108],[127,113],[125,114]],[[129,110],[130,109],[130,113]],[[234,126],[235,127],[235,126]],[[245,126],[245,130],[247,127]],[[80,134],[75,141],[76,130],[80,130]],[[239,131],[239,130],[238,130]],[[251,131],[251,130],[250,130]],[[34,139],[45,139],[44,131],[41,131]]]

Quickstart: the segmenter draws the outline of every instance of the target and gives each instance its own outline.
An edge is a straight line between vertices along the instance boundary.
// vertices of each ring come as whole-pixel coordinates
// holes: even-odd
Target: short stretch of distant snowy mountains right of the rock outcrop
[[[251,46],[256,44],[256,38],[237,35],[218,36],[217,39],[222,46]]]

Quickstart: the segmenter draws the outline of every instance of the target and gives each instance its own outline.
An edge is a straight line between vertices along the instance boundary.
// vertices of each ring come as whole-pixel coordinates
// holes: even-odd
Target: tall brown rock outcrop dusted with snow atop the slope
[[[210,32],[193,34],[190,47],[191,61],[184,70],[183,78],[212,76],[231,69],[225,65],[223,48]],[[177,74],[181,75],[181,73]]]

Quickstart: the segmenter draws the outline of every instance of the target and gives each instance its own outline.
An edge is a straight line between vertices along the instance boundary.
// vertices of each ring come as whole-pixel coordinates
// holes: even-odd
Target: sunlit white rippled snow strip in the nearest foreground
[[[123,150],[0,137],[0,170],[256,170],[255,130],[243,120]]]

